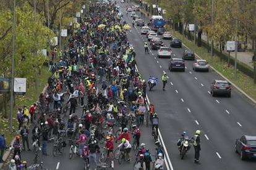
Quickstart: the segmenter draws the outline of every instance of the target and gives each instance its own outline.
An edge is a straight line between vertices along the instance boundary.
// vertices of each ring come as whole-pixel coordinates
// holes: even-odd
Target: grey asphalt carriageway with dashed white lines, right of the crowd
[[[132,30],[133,33],[134,31],[135,29]],[[131,38],[132,44],[139,46],[139,52],[142,52],[143,39],[140,42],[134,42],[134,38],[135,36]],[[145,40],[145,36],[143,38]],[[167,44],[169,43],[167,42]],[[181,49],[173,49],[173,53],[176,54],[176,56],[181,56],[181,52]],[[153,54],[153,56],[156,56],[156,51],[154,51]],[[137,56],[139,71],[145,79],[147,78],[147,75],[151,74],[152,70],[155,72],[155,75],[159,75],[158,78],[161,77],[163,70],[166,72],[168,70],[168,60],[154,59],[153,56],[144,54],[142,56]],[[147,61],[145,61],[145,57],[147,57]],[[201,158],[201,161],[203,164],[200,165],[202,169],[209,169],[210,167],[218,169],[238,169],[239,167],[246,167],[252,169],[251,163],[254,163],[255,161],[249,161],[249,163],[248,161],[240,161],[239,156],[234,153],[234,140],[241,136],[241,134],[254,133],[254,105],[252,105],[251,102],[248,102],[248,100],[235,89],[233,89],[232,97],[230,99],[226,97],[211,97],[208,93],[210,82],[215,78],[220,79],[220,76],[213,71],[210,73],[195,73],[192,71],[192,62],[186,61],[186,63],[189,64],[187,64],[185,73],[167,72],[172,81],[169,81],[169,87],[164,94],[161,91],[161,81],[158,82],[158,85],[160,86],[157,85],[152,92],[148,92],[150,101],[155,103],[158,113],[160,113],[159,110],[161,110],[161,118],[164,118],[163,124],[175,125],[174,127],[171,126],[169,129],[161,129],[164,138],[166,138],[168,142],[171,141],[173,143],[169,144],[166,142],[168,150],[170,148],[170,150],[173,151],[170,155],[177,152],[176,139],[179,137],[181,129],[188,129],[189,134],[194,134],[195,129],[201,128],[202,134],[207,135],[202,136],[203,158]],[[149,65],[150,69],[148,67]],[[171,85],[171,82],[173,86]],[[175,89],[173,89],[174,86],[176,86]],[[169,89],[171,89],[171,91],[169,91]],[[166,97],[166,93],[168,93],[169,97]],[[177,104],[179,102],[173,102],[172,98],[174,97],[177,97],[176,100],[183,103],[183,105]],[[182,100],[186,102],[182,102]],[[164,103],[164,101],[169,102]],[[170,107],[169,105],[171,105],[171,108],[168,110],[168,107]],[[178,109],[174,110],[174,108]],[[173,113],[175,115],[168,115],[168,113]],[[182,113],[190,114],[182,116]],[[177,118],[177,115],[181,118]],[[189,120],[184,118],[189,118]],[[239,121],[244,123],[242,127],[239,125],[241,124]],[[248,124],[248,126],[245,123]],[[187,128],[182,128],[186,127],[181,126],[182,124],[187,124]],[[174,129],[177,129],[178,131],[174,131]],[[166,130],[166,132],[164,132],[164,130]],[[168,138],[166,136],[172,137]],[[192,154],[190,158],[192,159],[194,151],[191,150],[191,152]],[[173,156],[171,156],[171,158],[173,158]],[[179,160],[174,160],[174,169],[176,167],[176,161],[177,164],[182,164]],[[184,166],[186,166],[186,164],[184,164]],[[182,166],[178,166],[178,168],[182,168]]]

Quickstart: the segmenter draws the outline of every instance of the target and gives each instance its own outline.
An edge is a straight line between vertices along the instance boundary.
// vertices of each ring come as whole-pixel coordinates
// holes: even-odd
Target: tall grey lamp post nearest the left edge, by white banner
[[[12,28],[12,69],[11,69],[11,104],[10,104],[10,127],[9,131],[12,131],[12,116],[14,112],[14,57],[15,57],[15,15],[16,15],[16,0],[14,0],[14,26]]]

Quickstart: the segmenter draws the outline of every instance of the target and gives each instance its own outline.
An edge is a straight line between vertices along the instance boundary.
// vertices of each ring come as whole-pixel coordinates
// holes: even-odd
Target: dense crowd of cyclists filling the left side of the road
[[[116,2],[92,4],[79,26],[70,31],[64,51],[58,53],[54,47],[49,62],[53,74],[48,87],[29,109],[19,108],[19,130],[35,124],[33,142],[43,134],[46,156],[49,155],[47,142],[51,140],[54,144],[61,141],[60,147],[66,146],[65,139],[70,144],[76,142],[79,155],[88,161],[85,166],[90,169],[98,166],[96,153],[100,147],[106,148],[111,161],[118,160],[117,151],[124,149],[128,162],[136,160],[131,165],[134,169],[150,169],[151,162],[155,163],[155,169],[163,169],[163,148],[157,140],[158,116],[154,105],[146,100],[147,81],[135,68],[134,47],[127,39],[127,30],[123,29],[126,21],[117,14]],[[139,127],[148,117],[152,135],[156,136],[153,156],[140,142]],[[17,146],[20,136],[14,144],[15,161],[15,155],[20,156],[16,149],[20,147]],[[119,142],[116,147],[115,142]],[[130,155],[131,148],[139,148],[136,158]]]

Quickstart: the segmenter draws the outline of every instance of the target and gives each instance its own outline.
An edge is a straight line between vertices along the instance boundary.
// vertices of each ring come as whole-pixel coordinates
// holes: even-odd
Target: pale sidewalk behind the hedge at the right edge
[[[207,34],[202,34],[202,39],[204,41],[207,41]],[[211,44],[211,42],[209,42],[209,44]],[[228,51],[226,51],[226,46],[224,52],[228,54]],[[252,65],[253,55],[254,52],[237,52],[237,60],[239,60],[242,63],[245,63],[246,65],[249,65],[250,68],[254,68],[254,66]],[[230,56],[235,58],[235,52],[230,52]]]

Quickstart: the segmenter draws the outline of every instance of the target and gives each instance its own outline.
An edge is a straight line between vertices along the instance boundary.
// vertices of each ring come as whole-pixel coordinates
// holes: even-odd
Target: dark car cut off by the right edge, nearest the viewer
[[[236,139],[235,149],[241,160],[256,158],[256,136],[244,135]]]

